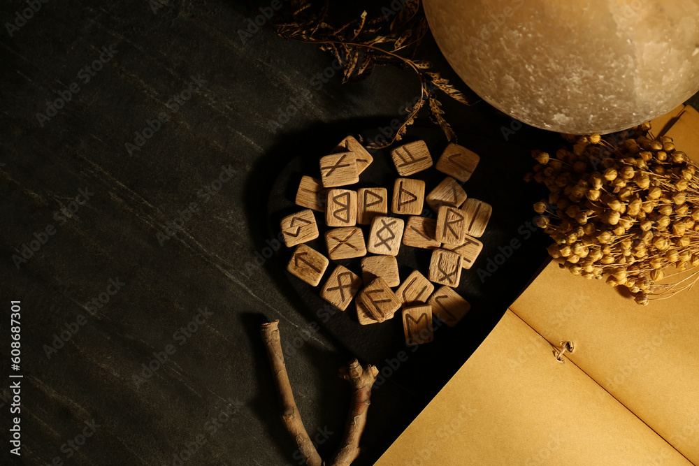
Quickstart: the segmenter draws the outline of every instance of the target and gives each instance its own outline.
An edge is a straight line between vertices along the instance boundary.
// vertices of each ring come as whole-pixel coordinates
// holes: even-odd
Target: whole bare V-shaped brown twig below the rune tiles
[[[267,356],[272,367],[275,384],[282,404],[282,421],[294,437],[298,451],[310,466],[349,466],[359,456],[359,440],[366,425],[366,415],[370,404],[371,387],[376,381],[379,371],[373,365],[360,365],[354,359],[348,367],[340,370],[340,377],[352,384],[352,405],[347,416],[347,425],[340,449],[333,455],[330,463],[325,463],[319,456],[313,442],[308,437],[301,414],[298,413],[294,393],[291,391],[287,367],[284,364],[284,354],[279,335],[279,321],[263,323],[260,327],[262,339],[267,348]]]

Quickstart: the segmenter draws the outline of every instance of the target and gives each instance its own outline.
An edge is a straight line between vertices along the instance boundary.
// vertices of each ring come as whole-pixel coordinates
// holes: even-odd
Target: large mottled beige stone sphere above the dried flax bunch
[[[561,133],[621,131],[699,90],[699,0],[424,0],[484,101]]]

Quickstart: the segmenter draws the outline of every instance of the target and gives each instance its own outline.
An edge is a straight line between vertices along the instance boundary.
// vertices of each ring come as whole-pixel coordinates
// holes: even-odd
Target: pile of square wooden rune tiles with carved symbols
[[[391,213],[408,215],[407,221],[389,216],[386,188],[342,188],[358,183],[363,170],[373,162],[371,154],[349,136],[331,155],[321,157],[321,180],[301,179],[296,204],[308,208],[282,219],[284,242],[288,247],[296,246],[287,270],[312,286],[320,284],[329,260],[303,243],[319,235],[312,210],[323,212],[326,225],[331,227],[325,233],[330,259],[363,259],[362,277],[336,265],[320,296],[343,311],[356,296],[357,319],[363,325],[391,319],[403,307],[405,341],[421,344],[433,340],[433,314],[454,326],[470,310],[454,288],[459,286],[461,269],[470,268],[483,247],[476,238],[485,231],[492,207],[467,198],[456,181],[466,182],[479,161],[477,154],[465,147],[447,146],[436,168],[449,176],[427,196],[424,181],[408,178],[432,166],[424,141],[397,147],[391,157],[400,175],[394,182]],[[420,217],[424,201],[437,213],[436,220]],[[369,225],[366,240],[357,224]],[[413,270],[401,282],[396,261],[401,242],[433,250],[427,278]],[[366,256],[367,252],[375,255]],[[442,286],[435,291],[431,282]]]

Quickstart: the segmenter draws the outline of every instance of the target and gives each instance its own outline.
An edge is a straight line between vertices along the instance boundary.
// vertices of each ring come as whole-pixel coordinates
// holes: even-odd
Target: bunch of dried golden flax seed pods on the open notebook
[[[551,235],[549,254],[587,279],[626,286],[636,303],[668,298],[699,279],[699,169],[655,138],[650,123],[614,136],[564,135],[572,147],[538,161],[525,180],[545,184],[535,203],[538,224]],[[672,284],[664,270],[693,271]]]

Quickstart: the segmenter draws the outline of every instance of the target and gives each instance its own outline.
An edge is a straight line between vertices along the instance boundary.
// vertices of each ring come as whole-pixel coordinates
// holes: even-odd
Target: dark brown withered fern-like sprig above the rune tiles
[[[415,59],[415,51],[428,30],[419,0],[404,0],[390,24],[383,16],[368,18],[364,11],[359,18],[339,27],[333,27],[328,18],[328,1],[322,8],[315,8],[310,0],[284,3],[284,8],[272,22],[277,34],[294,41],[315,43],[322,50],[331,52],[343,67],[343,82],[366,79],[376,66],[387,65],[410,69],[419,78],[419,99],[405,109],[407,114],[396,133],[368,147],[382,149],[403,139],[408,126],[415,122],[415,117],[424,107],[449,142],[456,143],[456,133],[443,116],[438,92],[466,105],[473,103],[439,73],[428,71],[432,66],[430,62]]]

